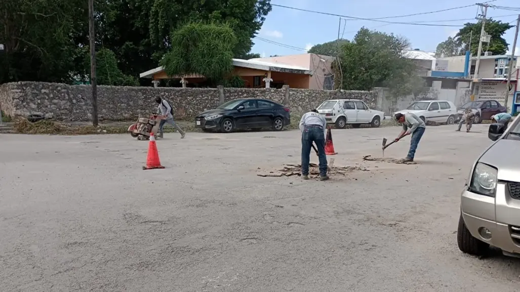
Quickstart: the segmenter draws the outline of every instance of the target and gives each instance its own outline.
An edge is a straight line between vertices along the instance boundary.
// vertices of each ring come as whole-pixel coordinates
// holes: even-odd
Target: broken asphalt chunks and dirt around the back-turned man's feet
[[[355,170],[369,171],[365,167],[359,166],[333,166],[329,169],[328,174],[331,176],[346,176],[349,172]],[[301,176],[302,165],[301,164],[284,164],[283,168],[271,171],[259,172],[256,174],[259,177],[290,177],[290,176]],[[314,163],[309,164],[309,177],[318,178],[320,176],[319,166]]]

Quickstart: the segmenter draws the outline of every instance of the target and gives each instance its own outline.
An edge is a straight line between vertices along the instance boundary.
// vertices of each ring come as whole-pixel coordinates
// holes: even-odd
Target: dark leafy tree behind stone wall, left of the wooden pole
[[[0,83],[71,81],[77,49],[71,35],[86,8],[80,0],[0,1]]]

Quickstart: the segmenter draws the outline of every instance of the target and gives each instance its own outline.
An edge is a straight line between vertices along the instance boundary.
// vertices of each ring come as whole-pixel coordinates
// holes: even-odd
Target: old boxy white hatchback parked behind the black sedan
[[[325,116],[327,124],[335,124],[343,129],[347,124],[359,128],[361,124],[379,127],[385,119],[385,113],[371,110],[365,102],[358,99],[332,99],[324,101],[317,108]]]

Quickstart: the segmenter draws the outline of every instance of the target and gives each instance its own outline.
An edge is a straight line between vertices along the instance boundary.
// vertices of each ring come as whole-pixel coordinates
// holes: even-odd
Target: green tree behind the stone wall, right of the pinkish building
[[[396,95],[411,94],[412,88],[407,85],[413,81],[417,67],[403,55],[409,45],[405,38],[361,28],[352,42],[341,47],[342,89],[388,87]]]

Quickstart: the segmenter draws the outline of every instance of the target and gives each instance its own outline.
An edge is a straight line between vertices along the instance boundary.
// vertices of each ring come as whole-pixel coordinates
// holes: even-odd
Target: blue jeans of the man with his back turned
[[[302,133],[302,175],[309,175],[310,150],[316,143],[319,158],[320,176],[327,176],[327,156],[325,155],[325,135],[323,128],[305,126]]]

